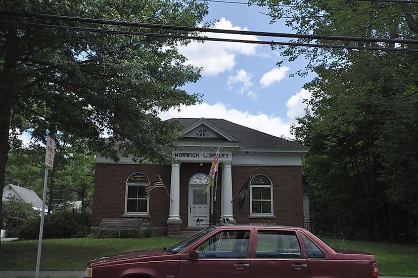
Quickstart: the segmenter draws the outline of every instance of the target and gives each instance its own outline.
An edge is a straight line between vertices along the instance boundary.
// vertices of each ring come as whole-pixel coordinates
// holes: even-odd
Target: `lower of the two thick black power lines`
[[[353,49],[353,50],[360,49],[360,50],[418,52],[417,48],[389,48],[389,47],[374,47],[374,46],[311,44],[311,43],[264,41],[264,40],[234,40],[234,39],[221,39],[221,38],[209,38],[209,37],[197,37],[197,36],[180,36],[180,35],[169,35],[169,34],[157,34],[157,33],[147,33],[147,32],[132,32],[132,31],[121,31],[121,30],[95,29],[95,28],[62,26],[62,25],[40,24],[40,23],[25,23],[25,22],[14,22],[14,21],[4,21],[4,20],[1,20],[0,23],[14,24],[14,25],[25,25],[25,26],[33,26],[33,27],[41,27],[41,28],[53,28],[53,29],[73,30],[73,31],[95,32],[95,33],[103,33],[103,34],[150,36],[150,37],[170,38],[170,39],[210,40],[210,41],[222,41],[222,42],[241,42],[241,43],[252,43],[252,44],[287,45],[287,46],[320,47],[320,48],[339,48],[339,49]]]

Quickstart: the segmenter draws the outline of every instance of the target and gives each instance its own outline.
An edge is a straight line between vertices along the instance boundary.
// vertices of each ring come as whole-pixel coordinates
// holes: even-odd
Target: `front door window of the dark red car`
[[[197,246],[196,250],[201,259],[245,258],[249,238],[249,230],[221,231]]]

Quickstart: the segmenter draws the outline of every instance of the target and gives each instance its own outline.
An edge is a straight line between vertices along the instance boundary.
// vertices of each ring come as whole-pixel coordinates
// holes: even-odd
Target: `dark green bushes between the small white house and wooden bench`
[[[26,221],[18,235],[23,239],[39,238],[40,220]],[[90,216],[86,213],[62,212],[47,215],[44,220],[44,238],[80,238],[89,234]]]

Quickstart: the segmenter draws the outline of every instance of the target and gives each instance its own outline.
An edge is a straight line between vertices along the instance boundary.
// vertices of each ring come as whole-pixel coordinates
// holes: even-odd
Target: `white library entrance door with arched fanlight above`
[[[194,174],[188,183],[188,226],[209,225],[209,194],[203,189],[207,175]]]

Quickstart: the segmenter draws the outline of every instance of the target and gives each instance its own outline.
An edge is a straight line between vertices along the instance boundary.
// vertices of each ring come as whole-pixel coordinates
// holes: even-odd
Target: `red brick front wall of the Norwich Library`
[[[188,226],[188,182],[192,175],[205,173],[210,163],[182,163],[180,167],[180,218],[182,230]],[[96,164],[92,226],[98,226],[102,217],[121,217],[125,211],[126,179],[133,173],[145,174],[153,182],[160,174],[161,179],[170,192],[170,165],[135,165],[135,164]],[[241,211],[237,200],[233,201],[233,216],[237,224],[275,223],[279,225],[302,226],[302,177],[300,167],[284,166],[233,166],[232,165],[232,196],[235,196],[250,175],[265,174],[273,182],[274,215],[276,219],[250,219],[250,195]],[[222,167],[218,175],[217,220],[221,216]],[[149,214],[151,218],[143,218],[154,227],[166,227],[169,215],[170,199],[164,188],[156,188],[151,192]]]

